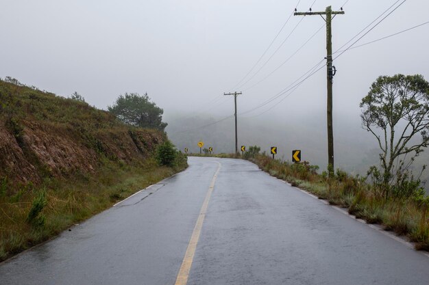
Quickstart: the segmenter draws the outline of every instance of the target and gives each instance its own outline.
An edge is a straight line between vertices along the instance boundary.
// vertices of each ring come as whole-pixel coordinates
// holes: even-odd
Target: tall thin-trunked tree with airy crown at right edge
[[[419,74],[378,77],[360,107],[363,128],[376,137],[382,151],[380,167],[371,167],[369,175],[383,195],[420,191],[419,178],[415,183],[408,169],[429,144],[428,81]],[[415,139],[418,134],[421,140]],[[412,157],[405,163],[407,154]]]

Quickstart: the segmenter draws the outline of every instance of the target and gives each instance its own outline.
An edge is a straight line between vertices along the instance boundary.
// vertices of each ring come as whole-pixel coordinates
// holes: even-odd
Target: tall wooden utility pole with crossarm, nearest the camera
[[[295,10],[296,11],[296,10]],[[331,6],[326,8],[325,12],[295,12],[295,16],[312,16],[320,15],[323,18],[323,15],[326,15],[326,18],[323,20],[326,21],[326,66],[327,70],[327,79],[328,79],[328,108],[327,108],[327,118],[328,118],[328,172],[329,176],[334,176],[334,131],[332,128],[332,79],[336,72],[335,67],[332,66],[332,15],[344,14],[343,8],[341,11],[332,11]]]

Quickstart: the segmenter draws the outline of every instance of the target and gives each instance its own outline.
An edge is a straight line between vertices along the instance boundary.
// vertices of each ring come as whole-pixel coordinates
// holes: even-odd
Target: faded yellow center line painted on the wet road
[[[219,164],[219,166],[217,167],[215,176],[213,176],[212,178],[210,187],[208,187],[206,198],[204,199],[203,206],[201,206],[201,210],[199,211],[197,223],[195,223],[195,228],[192,233],[191,240],[189,241],[188,248],[186,249],[186,253],[182,261],[182,266],[180,266],[180,270],[177,274],[177,279],[175,280],[174,285],[186,285],[188,283],[189,271],[191,271],[191,266],[195,255],[195,249],[197,249],[197,243],[199,240],[199,234],[201,234],[201,228],[203,227],[204,218],[206,217],[208,202],[210,201],[210,196],[212,195],[213,188],[215,188],[217,174],[219,174],[219,171],[221,170],[221,163],[217,161],[215,162]]]

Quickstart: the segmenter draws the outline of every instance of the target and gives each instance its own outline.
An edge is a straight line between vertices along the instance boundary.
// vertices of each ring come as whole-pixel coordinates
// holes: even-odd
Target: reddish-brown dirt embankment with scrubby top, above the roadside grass
[[[139,163],[166,137],[125,126],[106,111],[25,86],[0,82],[0,178],[90,176],[106,161]]]

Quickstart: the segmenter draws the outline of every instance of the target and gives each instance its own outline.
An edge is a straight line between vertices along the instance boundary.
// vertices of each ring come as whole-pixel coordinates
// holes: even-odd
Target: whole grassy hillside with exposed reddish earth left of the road
[[[186,167],[154,159],[167,136],[82,100],[0,81],[0,260]]]

